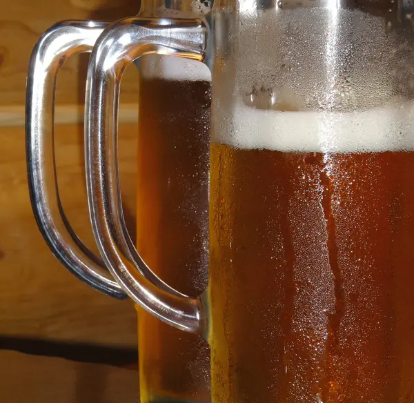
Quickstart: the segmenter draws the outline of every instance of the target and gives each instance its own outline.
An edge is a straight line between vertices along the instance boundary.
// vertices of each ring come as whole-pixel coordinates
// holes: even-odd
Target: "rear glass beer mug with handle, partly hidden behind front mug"
[[[139,15],[194,17],[205,14],[208,5],[206,1],[190,10],[189,2],[142,1]],[[73,53],[90,51],[104,26],[96,21],[63,21],[48,30],[34,49],[28,80],[29,184],[39,228],[61,262],[94,288],[126,297],[70,228],[59,206],[52,170],[53,81],[59,63]],[[137,250],[157,275],[196,296],[208,279],[210,70],[197,61],[158,55],[138,62],[139,99],[145,101],[139,103]],[[157,248],[159,243],[164,248]],[[137,313],[141,402],[208,402],[206,340],[183,334],[143,309],[137,308]]]

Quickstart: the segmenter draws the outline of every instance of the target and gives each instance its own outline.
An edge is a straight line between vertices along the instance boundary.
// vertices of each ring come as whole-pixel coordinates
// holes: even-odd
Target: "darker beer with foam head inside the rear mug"
[[[137,250],[167,284],[196,296],[208,280],[210,73],[151,58],[139,82]],[[210,401],[206,340],[137,311],[141,402]]]

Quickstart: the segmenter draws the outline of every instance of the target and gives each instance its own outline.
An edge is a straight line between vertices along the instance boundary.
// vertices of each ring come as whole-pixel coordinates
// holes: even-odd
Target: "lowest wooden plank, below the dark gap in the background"
[[[14,351],[0,363],[4,403],[139,403],[137,371]]]

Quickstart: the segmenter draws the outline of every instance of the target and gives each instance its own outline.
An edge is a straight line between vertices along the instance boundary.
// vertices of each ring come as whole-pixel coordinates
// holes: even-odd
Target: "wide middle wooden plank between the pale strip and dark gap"
[[[96,250],[83,170],[83,128],[58,125],[57,175],[73,228]],[[126,219],[134,237],[137,126],[121,125],[119,159]],[[132,302],[92,290],[52,256],[34,222],[23,126],[0,127],[1,337],[136,348]],[[59,400],[56,400],[59,401]]]

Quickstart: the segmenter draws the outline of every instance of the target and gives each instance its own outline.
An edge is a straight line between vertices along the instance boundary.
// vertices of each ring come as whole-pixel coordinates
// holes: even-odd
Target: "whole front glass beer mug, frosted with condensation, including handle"
[[[213,402],[414,402],[412,16],[395,0],[224,0],[99,35],[85,129],[99,252],[142,308],[206,337]],[[150,270],[121,208],[119,83],[152,53],[212,71],[195,298]]]

